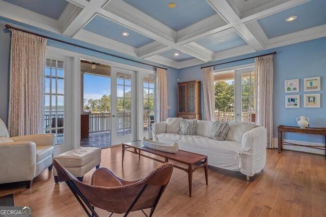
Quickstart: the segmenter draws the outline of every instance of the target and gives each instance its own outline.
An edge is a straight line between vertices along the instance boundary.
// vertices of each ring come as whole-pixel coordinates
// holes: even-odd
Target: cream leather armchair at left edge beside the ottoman
[[[0,183],[25,181],[30,188],[33,179],[44,169],[52,169],[54,134],[9,137],[0,119]]]

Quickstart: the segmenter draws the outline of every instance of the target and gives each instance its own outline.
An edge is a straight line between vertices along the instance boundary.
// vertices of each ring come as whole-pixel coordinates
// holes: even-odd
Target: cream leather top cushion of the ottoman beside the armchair
[[[93,147],[79,147],[55,157],[64,167],[80,167],[96,158],[101,158],[101,149]]]

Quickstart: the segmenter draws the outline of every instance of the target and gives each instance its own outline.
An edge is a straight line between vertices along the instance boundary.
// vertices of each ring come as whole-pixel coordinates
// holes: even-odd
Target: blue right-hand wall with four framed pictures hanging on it
[[[310,126],[325,127],[326,126],[326,38],[316,39],[298,44],[292,44],[275,49],[264,50],[261,52],[251,53],[236,58],[230,58],[223,61],[216,61],[206,65],[222,63],[226,61],[252,57],[263,53],[276,51],[274,57],[274,90],[273,90],[273,121],[274,121],[274,138],[277,138],[278,125],[293,125],[296,126],[296,117],[305,115],[310,118]],[[253,63],[254,60],[246,60],[225,64],[219,68],[227,68],[231,66]],[[180,82],[187,80],[202,80],[202,72],[199,66],[188,67],[179,70]],[[215,69],[218,69],[217,67]],[[321,77],[321,107],[320,108],[304,108],[303,107],[303,78],[304,77]],[[284,80],[300,78],[300,101],[301,108],[285,108]],[[311,92],[310,92],[311,93]],[[296,94],[296,93],[293,93]],[[201,110],[203,109],[203,94],[201,97]],[[323,143],[323,136],[287,134],[286,139],[302,140],[309,142]]]

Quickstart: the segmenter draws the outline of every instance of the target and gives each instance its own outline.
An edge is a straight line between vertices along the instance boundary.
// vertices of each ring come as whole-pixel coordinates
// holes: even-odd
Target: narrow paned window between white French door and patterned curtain
[[[143,93],[144,93],[144,132],[152,130],[152,124],[155,117],[155,79],[152,76],[144,76]]]

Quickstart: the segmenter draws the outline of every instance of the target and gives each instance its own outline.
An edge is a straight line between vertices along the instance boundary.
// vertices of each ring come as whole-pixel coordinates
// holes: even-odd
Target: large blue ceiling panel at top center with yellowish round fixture
[[[204,0],[125,0],[126,3],[178,31],[216,12]],[[175,3],[175,8],[168,4]]]

